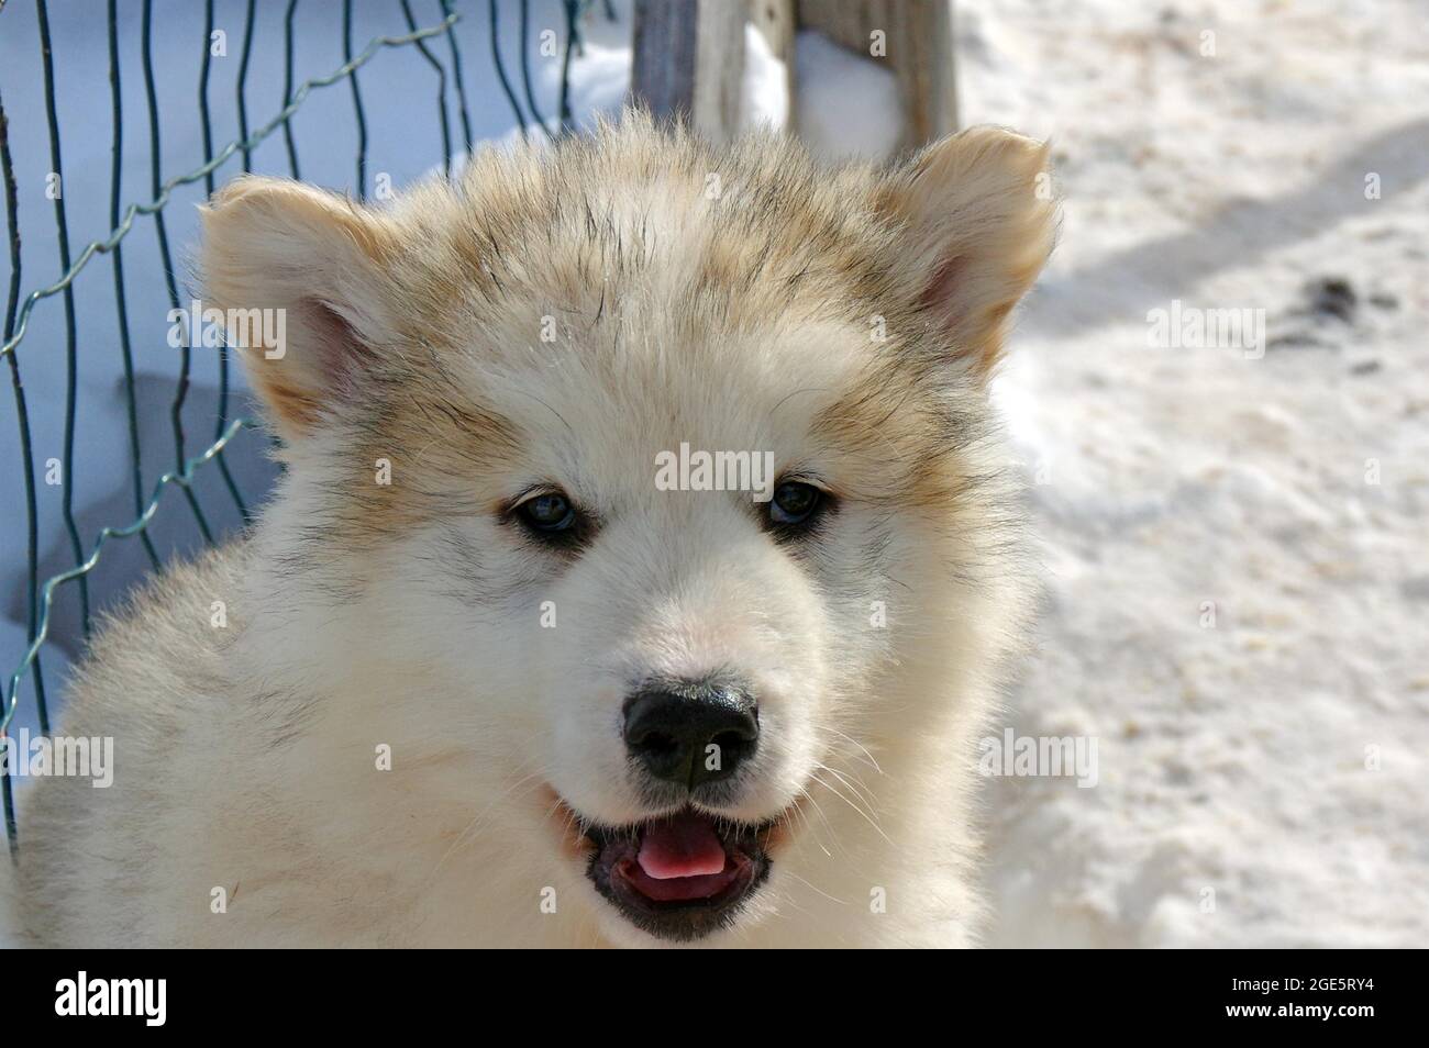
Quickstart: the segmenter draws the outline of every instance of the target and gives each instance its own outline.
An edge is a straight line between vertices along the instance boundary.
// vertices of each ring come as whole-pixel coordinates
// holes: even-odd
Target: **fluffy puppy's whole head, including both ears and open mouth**
[[[387,210],[206,213],[204,304],[284,310],[246,356],[337,658],[420,667],[407,715],[529,787],[520,847],[610,938],[757,919],[805,805],[860,807],[850,757],[956,702],[897,667],[1006,538],[985,381],[1043,161],[979,130],[823,173],[630,117]]]

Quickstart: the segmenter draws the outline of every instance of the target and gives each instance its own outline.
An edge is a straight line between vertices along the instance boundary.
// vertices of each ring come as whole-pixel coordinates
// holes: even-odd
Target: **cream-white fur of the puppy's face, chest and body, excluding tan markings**
[[[642,127],[604,131],[596,156],[690,148]],[[370,467],[352,461],[367,447],[359,408],[324,404],[319,421],[289,420],[289,470],[252,535],[170,570],[107,628],[63,730],[117,738],[116,785],[57,780],[24,798],[17,901],[34,942],[659,945],[590,887],[554,798],[607,824],[649,817],[630,782],[622,701],[644,677],[720,667],[750,682],[762,725],[749,788],[720,814],[783,817],[785,832],[767,884],[702,944],[973,941],[972,740],[1027,604],[985,390],[955,361],[942,378],[919,370],[925,407],[966,414],[976,434],[925,447],[890,420],[886,455],[840,450],[819,434],[820,413],[867,387],[892,350],[817,303],[723,331],[713,314],[692,313],[703,308],[690,297],[697,260],[739,234],[702,217],[697,177],[689,191],[662,181],[643,196],[620,177],[586,188],[626,231],[626,248],[644,224],[654,260],[626,274],[614,301],[602,298],[602,320],[590,321],[592,290],[583,306],[569,303],[562,346],[537,341],[554,300],[540,257],[524,260],[527,283],[503,284],[497,307],[453,290],[472,313],[440,321],[464,331],[440,347],[452,395],[514,423],[520,445],[469,477],[447,440],[394,437],[387,451],[404,497],[467,500],[466,510],[392,538],[357,534],[350,513],[333,524],[352,483],[340,470]],[[243,190],[219,216],[260,193]],[[430,214],[437,196],[423,200],[373,221],[410,244],[403,223]],[[243,221],[259,228],[257,217]],[[906,221],[916,234],[916,216]],[[297,251],[302,268],[300,246],[274,250]],[[407,250],[437,257],[442,247]],[[552,250],[576,251],[559,240]],[[996,261],[975,270],[979,287]],[[377,287],[377,268],[363,277],[353,266],[320,293],[353,337],[420,311]],[[250,270],[259,278],[264,267]],[[692,341],[692,327],[709,337]],[[970,341],[982,347],[983,334]],[[925,337],[905,324],[895,341],[912,353]],[[296,378],[272,381],[313,393],[319,368],[310,358],[294,367]],[[815,551],[795,555],[737,493],[653,487],[656,454],[682,441],[770,450],[780,468],[816,470],[845,494],[839,514]],[[957,500],[872,497],[927,457],[979,483]],[[513,541],[489,508],[550,478],[603,521],[570,563]],[[210,627],[217,600],[226,628]],[[543,601],[556,628],[542,625]],[[870,623],[876,601],[886,628]],[[376,768],[383,745],[390,771]],[[219,888],[226,912],[213,912]],[[543,912],[550,890],[556,912]]]

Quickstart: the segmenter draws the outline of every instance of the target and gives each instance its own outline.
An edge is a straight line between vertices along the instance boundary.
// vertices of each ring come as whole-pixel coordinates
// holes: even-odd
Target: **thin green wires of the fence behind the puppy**
[[[299,166],[299,143],[294,138],[292,117],[303,106],[304,100],[314,90],[330,87],[340,80],[349,83],[352,91],[352,107],[353,120],[357,133],[357,151],[356,151],[356,186],[359,187],[357,194],[362,196],[362,187],[367,184],[367,117],[363,109],[363,96],[357,79],[357,70],[372,61],[377,54],[386,49],[394,47],[414,47],[424,63],[434,73],[434,87],[436,87],[436,103],[437,113],[440,119],[442,131],[442,163],[443,170],[450,173],[452,158],[453,158],[453,141],[452,141],[452,121],[449,117],[449,104],[454,106],[460,127],[462,127],[462,141],[466,150],[472,147],[472,117],[467,109],[466,87],[462,76],[462,50],[454,31],[454,26],[462,19],[462,14],[454,10],[456,0],[436,0],[440,6],[440,17],[432,24],[422,26],[413,13],[410,0],[397,0],[397,9],[400,10],[402,20],[407,27],[406,33],[397,36],[377,36],[370,39],[363,47],[357,49],[353,41],[353,0],[343,0],[342,3],[342,31],[343,31],[343,63],[332,73],[326,76],[313,77],[302,83],[294,84],[294,13],[299,6],[299,0],[287,0],[287,7],[283,17],[283,107],[270,120],[260,124],[256,130],[249,127],[249,110],[247,110],[247,76],[250,57],[253,54],[254,46],[254,23],[256,23],[256,4],[257,0],[247,0],[244,30],[242,36],[240,54],[239,54],[239,69],[237,69],[237,86],[236,86],[236,103],[237,103],[237,137],[231,141],[224,143],[220,148],[214,150],[213,146],[213,117],[210,109],[210,57],[211,49],[209,46],[214,30],[214,0],[204,1],[204,39],[203,39],[203,59],[200,66],[200,81],[197,90],[197,110],[199,110],[199,124],[201,130],[203,140],[203,163],[190,171],[183,174],[171,176],[169,178],[163,177],[161,171],[161,121],[160,121],[160,104],[159,104],[159,90],[156,87],[154,79],[154,56],[151,50],[153,43],[153,0],[137,0],[140,6],[140,39],[141,39],[141,73],[144,81],[144,97],[147,109],[147,130],[149,130],[149,167],[150,167],[150,186],[149,186],[149,200],[146,203],[130,203],[121,207],[121,143],[124,133],[124,111],[123,111],[123,94],[121,94],[121,76],[120,76],[120,47],[119,47],[119,7],[120,0],[107,0],[106,6],[106,24],[109,34],[109,81],[110,81],[110,103],[111,103],[111,127],[113,127],[113,166],[110,171],[110,197],[109,197],[109,233],[100,240],[94,240],[86,244],[77,256],[71,257],[70,238],[69,238],[69,221],[66,216],[66,207],[63,194],[54,196],[54,233],[59,243],[59,260],[60,260],[60,277],[54,283],[30,291],[24,296],[21,301],[21,284],[23,284],[23,270],[21,270],[21,228],[20,228],[20,214],[19,214],[19,194],[16,190],[16,168],[11,157],[9,123],[4,111],[4,84],[0,83],[0,176],[3,176],[4,183],[4,204],[6,204],[6,231],[9,240],[9,261],[10,261],[10,278],[9,278],[9,294],[4,311],[4,330],[3,330],[3,344],[0,344],[0,357],[4,358],[6,366],[10,371],[10,386],[13,391],[14,414],[16,423],[19,425],[19,450],[21,458],[21,475],[24,483],[24,510],[26,510],[26,548],[27,548],[27,587],[26,587],[26,605],[27,605],[27,641],[29,645],[23,651],[23,655],[16,665],[14,671],[9,674],[7,678],[0,678],[0,745],[4,744],[7,734],[10,731],[11,721],[20,705],[21,684],[29,678],[31,684],[31,694],[34,698],[34,710],[37,714],[37,722],[41,734],[50,732],[50,708],[46,695],[46,680],[44,668],[41,661],[41,651],[44,643],[50,635],[50,615],[54,604],[56,590],[69,583],[74,583],[79,590],[79,604],[80,617],[83,624],[83,633],[87,637],[90,633],[90,593],[89,593],[89,575],[94,567],[100,563],[103,551],[107,543],[113,538],[134,538],[137,537],[141,543],[144,553],[147,555],[151,568],[159,568],[161,564],[161,557],[156,548],[151,535],[150,525],[156,515],[161,513],[164,504],[161,498],[170,487],[179,488],[183,501],[187,505],[189,514],[193,517],[199,533],[203,535],[206,543],[213,543],[216,540],[216,530],[210,524],[209,513],[200,504],[199,495],[194,491],[193,481],[199,470],[204,465],[213,463],[217,465],[219,475],[221,477],[223,487],[227,491],[227,497],[231,500],[234,511],[240,515],[243,521],[250,517],[250,504],[244,498],[239,488],[236,478],[229,470],[229,463],[224,458],[224,450],[234,441],[240,431],[252,427],[253,424],[246,418],[230,418],[230,381],[229,368],[230,360],[227,347],[220,347],[217,356],[217,370],[219,370],[219,393],[217,393],[217,411],[213,420],[211,437],[209,437],[207,444],[193,454],[190,451],[191,440],[186,433],[183,413],[186,398],[189,395],[190,378],[191,378],[191,364],[193,354],[191,347],[184,344],[179,347],[179,373],[174,386],[173,398],[169,405],[170,430],[173,437],[173,465],[164,471],[154,483],[151,488],[144,487],[144,470],[140,448],[140,427],[139,427],[139,404],[136,397],[136,383],[134,383],[134,356],[133,356],[133,341],[130,336],[130,320],[129,308],[126,300],[126,286],[124,286],[124,263],[123,263],[123,241],[133,231],[136,220],[140,217],[151,217],[154,224],[154,231],[159,241],[159,254],[163,264],[163,278],[164,288],[170,304],[179,308],[179,286],[174,278],[173,253],[169,244],[169,233],[164,224],[164,207],[169,204],[173,191],[180,186],[187,186],[203,180],[204,190],[213,193],[214,190],[214,176],[236,156],[240,158],[240,170],[250,171],[253,150],[254,147],[276,134],[279,130],[283,133],[283,140],[287,153],[289,173],[297,178],[300,177]],[[480,3],[480,0],[477,0]],[[562,71],[560,71],[560,87],[556,104],[556,121],[554,124],[547,123],[536,106],[536,99],[532,91],[530,81],[530,49],[529,43],[529,27],[530,27],[530,10],[527,0],[520,0],[519,3],[519,20],[520,20],[520,79],[522,89],[529,114],[523,111],[520,101],[517,100],[516,91],[512,86],[512,79],[507,76],[506,63],[502,59],[502,46],[497,34],[499,27],[499,11],[497,0],[486,0],[486,16],[487,29],[492,44],[492,61],[494,64],[496,77],[500,83],[502,91],[504,94],[506,103],[510,106],[516,124],[520,129],[522,137],[530,133],[542,133],[546,136],[559,136],[570,129],[572,114],[570,114],[570,91],[569,91],[569,73],[570,73],[570,53],[572,49],[580,47],[579,26],[584,9],[589,6],[590,0],[560,0],[560,10],[564,17],[566,39],[562,54]],[[0,0],[0,33],[6,31],[4,27],[4,4]],[[131,4],[126,4],[131,7]],[[613,17],[613,11],[606,4],[607,17]],[[39,26],[39,47],[41,54],[41,70],[43,70],[43,97],[44,97],[44,119],[49,130],[49,147],[50,147],[50,170],[56,173],[63,183],[63,150],[61,150],[61,134],[60,134],[60,120],[56,106],[56,90],[54,90],[54,56],[51,50],[51,36],[50,36],[50,11],[46,0],[36,0],[36,16]],[[442,47],[440,44],[444,44]],[[439,51],[444,51],[444,56]],[[449,103],[450,99],[450,103]],[[74,515],[74,455],[76,455],[76,418],[79,410],[79,360],[77,360],[77,330],[76,330],[76,304],[74,304],[74,281],[76,277],[94,260],[96,256],[107,254],[111,260],[113,267],[113,286],[114,286],[114,301],[116,301],[116,321],[117,321],[117,350],[120,361],[123,366],[123,390],[124,390],[124,408],[127,413],[127,430],[129,430],[129,445],[127,454],[130,461],[130,468],[127,474],[127,485],[130,488],[130,498],[133,507],[133,518],[129,523],[116,523],[113,525],[103,527],[96,537],[94,543],[86,548],[83,537],[79,530],[79,524]],[[40,578],[40,517],[37,507],[36,494],[36,458],[34,445],[31,440],[30,427],[30,413],[26,407],[26,390],[21,381],[20,370],[20,344],[24,340],[26,330],[29,327],[31,314],[37,307],[44,304],[47,300],[59,297],[63,307],[64,316],[64,366],[66,366],[66,401],[64,401],[64,443],[61,453],[61,478],[63,478],[63,495],[61,495],[61,510],[60,515],[63,520],[64,533],[67,537],[69,551],[73,558],[73,567],[54,574],[49,578]],[[170,500],[171,501],[171,500]],[[13,504],[11,504],[13,505]],[[14,513],[9,513],[6,520],[14,518]],[[11,770],[7,768],[7,772]],[[10,782],[11,774],[0,774],[0,798],[3,798],[4,807],[4,824],[6,837],[10,845],[11,855],[17,854],[17,840],[19,831],[14,814],[14,797]]]

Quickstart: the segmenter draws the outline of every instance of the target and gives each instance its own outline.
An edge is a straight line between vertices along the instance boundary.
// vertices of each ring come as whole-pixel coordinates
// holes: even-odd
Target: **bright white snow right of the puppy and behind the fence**
[[[514,29],[506,26],[506,40]],[[487,100],[473,114],[476,131],[502,137],[510,120],[490,101],[497,86],[479,80],[479,31],[470,19],[463,26],[479,89],[469,93]],[[997,388],[1037,480],[1049,577],[1036,658],[997,727],[1099,740],[1095,788],[1070,778],[989,781],[987,887],[997,914],[989,942],[1423,945],[1422,4],[960,0],[957,34],[965,121],[1050,136],[1066,196],[1062,246]],[[746,97],[777,113],[770,64],[755,44]],[[422,74],[417,59],[390,59],[399,60]],[[574,67],[577,113],[617,106],[627,63],[622,31],[596,23]],[[336,63],[312,56],[309,64],[319,69],[304,74]],[[889,74],[860,64],[822,40],[800,41],[799,120],[823,151],[880,153],[896,137]],[[539,97],[552,97],[553,64],[537,64],[537,79]],[[273,80],[254,74],[269,93]],[[10,91],[20,89],[6,89],[14,109]],[[402,120],[404,97],[369,91],[379,129],[387,121],[374,150],[414,134],[416,121]],[[340,93],[326,96],[333,117],[310,117],[303,136],[320,140],[340,126]],[[266,119],[274,106],[254,109]],[[830,111],[840,120],[822,119]],[[31,110],[26,156],[43,157],[33,121]],[[230,123],[224,116],[221,127]],[[181,127],[174,134],[189,138],[179,141],[187,164],[197,146]],[[107,134],[101,121],[90,161],[97,181],[69,194],[100,210]],[[387,170],[400,183],[434,150],[427,141],[392,154],[400,160]],[[307,156],[319,168],[309,177],[343,184],[347,150]],[[336,174],[324,167],[329,156],[342,157]],[[284,170],[276,140],[257,166]],[[126,177],[126,198],[141,198],[141,158]],[[1366,194],[1376,181],[1378,196]],[[23,210],[43,216],[40,191],[30,183],[21,191]],[[84,243],[103,214],[79,214],[71,226],[83,234],[71,236]],[[34,243],[43,253],[43,240]],[[27,290],[53,271],[37,254]],[[90,281],[86,301],[104,294],[107,278],[106,270]],[[1263,354],[1152,348],[1147,314],[1173,300],[1263,310]],[[154,300],[144,317],[164,308]],[[36,343],[51,350],[57,316],[46,310],[36,328]],[[81,333],[89,324],[81,314]],[[93,326],[111,328],[111,306]],[[167,374],[167,360],[151,356],[150,367],[140,357],[144,374]],[[59,401],[46,390],[61,373],[27,367],[41,428],[53,434]],[[87,381],[94,397],[117,403],[111,373],[91,368]],[[53,435],[41,440],[53,447]],[[153,443],[161,440],[157,431]],[[109,443],[119,454],[123,445]],[[10,447],[3,451],[11,461]],[[19,490],[4,478],[6,493]],[[116,523],[123,487],[99,488],[114,493],[96,510],[110,514],[100,523]],[[57,531],[47,524],[44,534]],[[6,625],[13,638],[16,624]]]

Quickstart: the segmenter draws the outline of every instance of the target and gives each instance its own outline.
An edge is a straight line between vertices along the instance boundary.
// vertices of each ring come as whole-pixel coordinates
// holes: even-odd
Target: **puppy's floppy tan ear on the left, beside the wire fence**
[[[204,310],[229,320],[270,423],[292,441],[393,344],[384,264],[396,237],[380,213],[286,178],[237,178],[200,213]]]

